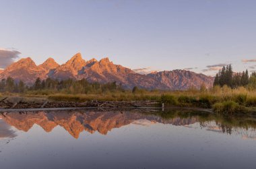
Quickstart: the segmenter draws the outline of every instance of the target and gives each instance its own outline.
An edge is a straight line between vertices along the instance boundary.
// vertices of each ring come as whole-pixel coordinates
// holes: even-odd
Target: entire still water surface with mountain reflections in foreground
[[[0,168],[256,168],[256,118],[191,110],[0,114]]]

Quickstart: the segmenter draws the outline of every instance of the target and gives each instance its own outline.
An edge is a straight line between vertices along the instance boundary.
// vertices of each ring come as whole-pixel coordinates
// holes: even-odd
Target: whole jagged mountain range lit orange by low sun
[[[106,57],[97,61],[85,61],[77,53],[66,63],[59,65],[49,58],[44,63],[36,65],[30,57],[12,63],[6,69],[0,70],[0,79],[12,77],[15,81],[24,81],[32,85],[37,77],[46,79],[87,79],[90,82],[108,83],[116,81],[124,88],[132,89],[134,86],[145,89],[159,90],[186,90],[191,87],[200,88],[204,83],[206,88],[212,87],[214,77],[186,70],[160,71],[141,75],[135,71],[115,65]]]

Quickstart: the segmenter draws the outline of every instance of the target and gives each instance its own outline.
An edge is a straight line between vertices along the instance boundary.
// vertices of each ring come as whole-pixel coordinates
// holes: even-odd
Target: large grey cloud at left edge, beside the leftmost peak
[[[18,50],[7,50],[0,48],[0,69],[3,69],[13,63],[15,59],[19,58],[20,54],[21,53]]]

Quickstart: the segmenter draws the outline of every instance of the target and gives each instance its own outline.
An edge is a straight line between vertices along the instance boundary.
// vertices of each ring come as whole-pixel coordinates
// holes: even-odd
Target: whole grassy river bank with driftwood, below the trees
[[[8,98],[7,100],[3,100]],[[2,100],[2,102],[1,102]],[[9,101],[8,101],[9,100]],[[154,103],[154,104],[153,104]],[[44,106],[42,106],[45,104]],[[213,88],[199,91],[146,91],[139,94],[0,94],[1,108],[62,107],[179,107],[203,108],[211,112],[234,114],[256,112],[256,92],[245,88]]]

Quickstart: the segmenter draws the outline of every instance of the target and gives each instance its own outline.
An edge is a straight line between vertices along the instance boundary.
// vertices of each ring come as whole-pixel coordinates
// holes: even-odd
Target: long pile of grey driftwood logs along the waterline
[[[8,101],[8,100],[7,100]],[[160,107],[160,103],[156,101],[131,101],[131,102],[117,102],[117,101],[98,101],[92,100],[90,102],[0,102],[1,109],[10,108],[141,108],[141,107]]]

